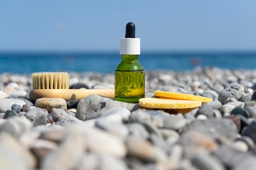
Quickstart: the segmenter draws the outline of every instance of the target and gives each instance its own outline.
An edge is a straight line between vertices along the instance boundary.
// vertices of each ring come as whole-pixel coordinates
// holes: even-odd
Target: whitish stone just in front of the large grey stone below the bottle
[[[116,108],[106,113],[106,115],[103,115],[102,117],[112,121],[119,121],[119,117],[121,117],[122,121],[128,121],[130,115],[130,110],[127,108]]]

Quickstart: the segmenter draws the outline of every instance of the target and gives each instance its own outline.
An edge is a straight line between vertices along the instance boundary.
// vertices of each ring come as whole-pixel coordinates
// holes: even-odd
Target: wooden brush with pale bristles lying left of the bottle
[[[66,72],[33,73],[32,81],[29,98],[33,101],[42,97],[80,100],[92,94],[115,99],[115,89],[69,89],[69,74]]]

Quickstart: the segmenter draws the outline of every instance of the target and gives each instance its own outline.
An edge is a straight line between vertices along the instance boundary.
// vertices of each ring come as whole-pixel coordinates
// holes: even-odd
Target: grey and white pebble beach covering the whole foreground
[[[70,88],[114,88],[113,73],[71,77]],[[162,90],[213,102],[152,110],[90,95],[46,109],[29,99],[30,75],[2,73],[1,169],[255,169],[255,84],[256,70],[147,71],[145,97]]]

